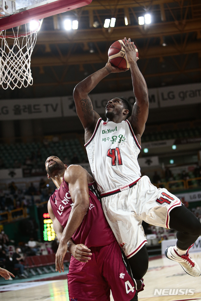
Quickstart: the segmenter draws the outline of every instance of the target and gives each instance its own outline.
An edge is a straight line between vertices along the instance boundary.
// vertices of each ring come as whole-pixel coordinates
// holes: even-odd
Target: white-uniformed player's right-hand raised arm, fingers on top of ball
[[[132,128],[134,130],[135,135],[139,137],[142,136],[145,128],[145,123],[148,117],[149,110],[149,98],[148,98],[148,90],[147,84],[144,80],[142,73],[140,72],[137,59],[136,59],[136,51],[134,43],[126,38],[124,38],[125,45],[122,43],[122,47],[126,52],[126,58],[130,65],[130,71],[133,82],[133,92],[135,94],[136,102],[133,106],[133,112],[131,117],[128,118],[130,121]]]

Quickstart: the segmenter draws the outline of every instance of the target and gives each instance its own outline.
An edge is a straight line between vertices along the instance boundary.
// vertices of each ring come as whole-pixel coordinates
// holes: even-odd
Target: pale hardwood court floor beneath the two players
[[[192,253],[201,267],[201,252]],[[145,288],[139,293],[140,301],[201,301],[201,276],[187,275],[182,267],[165,256],[149,261],[149,270],[144,276]],[[155,289],[166,289],[166,296],[158,296]],[[177,295],[168,295],[168,289],[182,289]],[[187,289],[194,289],[193,295]],[[0,286],[1,301],[68,301],[67,280],[50,280],[38,282],[20,282],[15,280]],[[183,292],[183,294],[182,294]],[[180,293],[180,295],[179,295]],[[86,300],[87,301],[87,300]],[[111,296],[111,301],[113,298]],[[123,301],[123,300],[119,300]]]

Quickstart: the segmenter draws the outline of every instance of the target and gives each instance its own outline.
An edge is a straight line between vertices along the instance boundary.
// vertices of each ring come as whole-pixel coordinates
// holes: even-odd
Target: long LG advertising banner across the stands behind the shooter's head
[[[201,84],[189,84],[148,89],[149,109],[201,103]],[[133,105],[133,90],[90,94],[94,110],[105,113],[107,102],[115,97],[125,97]],[[39,119],[76,116],[73,95],[50,98],[23,98],[0,100],[0,120]]]

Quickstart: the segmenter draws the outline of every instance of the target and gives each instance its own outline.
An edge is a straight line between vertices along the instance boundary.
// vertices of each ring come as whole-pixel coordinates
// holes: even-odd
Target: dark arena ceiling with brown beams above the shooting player
[[[138,17],[145,13],[152,22],[139,25]],[[67,17],[79,21],[77,30],[64,30]],[[104,20],[112,17],[115,27],[104,28]],[[149,88],[201,82],[200,29],[200,0],[93,0],[44,19],[31,59],[33,86],[1,88],[0,97],[72,95],[79,81],[105,66],[110,45],[124,37],[130,37],[139,50],[138,66]],[[130,89],[127,71],[110,74],[93,92]]]

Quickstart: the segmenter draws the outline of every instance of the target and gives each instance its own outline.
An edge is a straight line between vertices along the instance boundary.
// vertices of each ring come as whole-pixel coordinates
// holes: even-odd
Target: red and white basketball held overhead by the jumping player
[[[112,66],[118,67],[120,69],[130,68],[128,61],[126,60],[126,53],[122,47],[121,42],[125,44],[124,40],[118,40],[110,46],[108,50],[109,61],[111,62]],[[135,50],[138,57],[138,50],[136,46]]]

